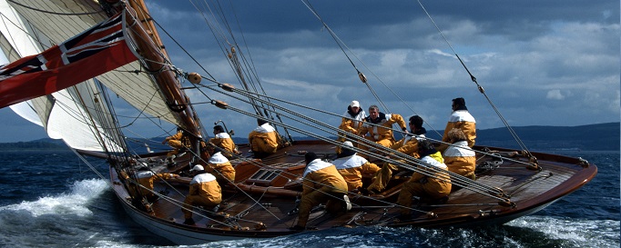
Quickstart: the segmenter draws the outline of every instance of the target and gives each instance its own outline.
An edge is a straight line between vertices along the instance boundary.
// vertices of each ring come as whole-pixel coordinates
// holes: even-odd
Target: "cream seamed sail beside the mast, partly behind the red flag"
[[[9,3],[20,15],[28,20],[29,24],[35,26],[55,44],[80,34],[107,18],[103,12],[92,15],[54,15],[42,12],[95,13],[100,11],[100,8],[94,1],[14,1],[36,9],[33,10]],[[71,2],[71,4],[66,2]],[[171,124],[178,124],[175,114],[170,111],[163,95],[159,93],[158,85],[149,78],[148,74],[132,73],[140,70],[139,62],[133,62],[121,66],[114,71],[99,75],[97,79],[127,101],[128,104],[133,105],[144,113],[161,118]]]

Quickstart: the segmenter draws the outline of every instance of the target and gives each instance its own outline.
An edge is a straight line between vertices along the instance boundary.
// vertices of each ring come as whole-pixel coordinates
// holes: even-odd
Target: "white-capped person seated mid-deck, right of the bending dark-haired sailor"
[[[336,169],[347,182],[348,191],[360,191],[362,188],[362,174],[375,174],[380,170],[377,164],[369,163],[365,158],[356,154],[353,144],[346,141],[343,143],[341,154],[332,161]]]

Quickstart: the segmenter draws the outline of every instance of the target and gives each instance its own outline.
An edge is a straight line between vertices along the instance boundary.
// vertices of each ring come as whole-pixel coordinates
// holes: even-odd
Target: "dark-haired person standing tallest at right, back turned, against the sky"
[[[466,135],[468,146],[474,146],[474,140],[476,139],[476,121],[470,112],[468,112],[468,108],[465,105],[465,100],[462,97],[453,99],[453,104],[451,105],[453,108],[453,113],[451,117],[449,117],[448,123],[446,123],[446,128],[444,128],[444,134],[442,137],[443,144],[440,144],[438,150],[444,152],[448,147],[448,134],[453,128],[459,128],[463,131],[463,134]]]

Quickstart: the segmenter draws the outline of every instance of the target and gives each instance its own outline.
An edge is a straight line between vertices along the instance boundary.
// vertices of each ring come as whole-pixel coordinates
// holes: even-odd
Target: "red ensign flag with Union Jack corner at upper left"
[[[124,12],[39,55],[0,67],[0,108],[52,94],[137,60],[123,33]]]

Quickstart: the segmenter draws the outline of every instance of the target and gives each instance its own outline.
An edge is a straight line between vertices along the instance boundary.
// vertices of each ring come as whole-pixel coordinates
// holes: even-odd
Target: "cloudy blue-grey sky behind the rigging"
[[[147,2],[155,20],[209,74],[237,84],[196,7],[184,1]],[[268,94],[338,114],[354,99],[365,109],[378,104],[348,57],[302,2],[220,4],[229,11],[230,3],[235,15],[227,14],[229,25],[238,43],[246,41],[246,55],[251,55]],[[419,114],[442,130],[451,99],[464,97],[477,128],[504,126],[456,53],[512,126],[619,121],[618,1],[422,1],[454,53],[416,1],[311,4],[351,49],[353,64],[366,74],[390,112],[405,118]],[[174,64],[206,74],[160,35]],[[213,108],[197,107],[207,126],[224,120],[239,137],[255,126],[248,118]],[[0,142],[46,137],[40,127],[21,120],[9,108],[0,109],[0,119]]]

